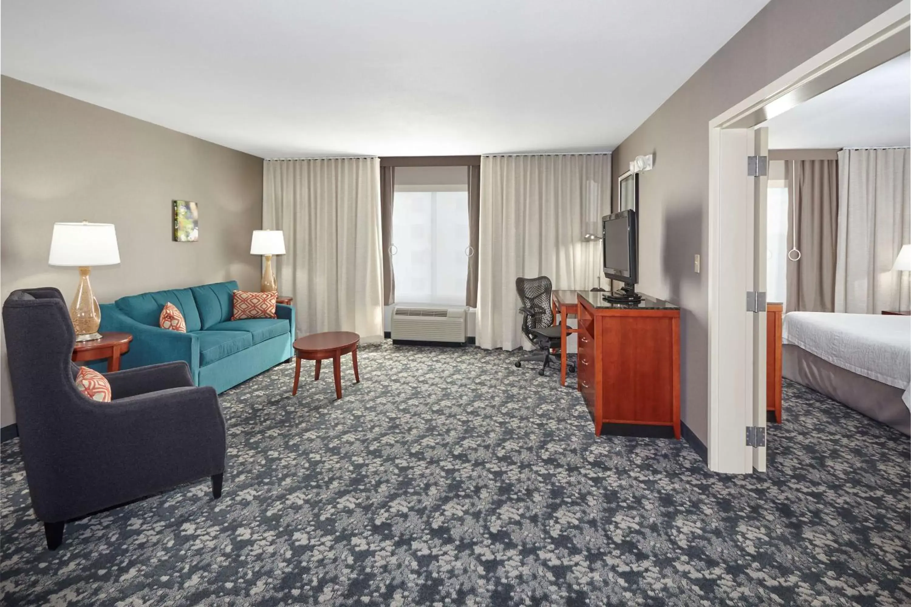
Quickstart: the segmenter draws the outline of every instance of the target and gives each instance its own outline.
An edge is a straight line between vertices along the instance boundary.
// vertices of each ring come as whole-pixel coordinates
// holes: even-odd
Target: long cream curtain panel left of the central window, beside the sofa
[[[383,339],[379,158],[264,161],[262,227],[284,231],[277,276],[298,335]]]

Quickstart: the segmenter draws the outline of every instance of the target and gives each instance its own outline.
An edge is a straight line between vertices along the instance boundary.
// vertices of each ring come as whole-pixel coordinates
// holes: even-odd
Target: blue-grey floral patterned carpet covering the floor
[[[222,395],[209,481],[67,524],[47,551],[3,444],[7,605],[907,605],[906,437],[785,383],[770,472],[601,437],[519,352],[363,347]],[[312,373],[312,363],[303,374]],[[571,380],[574,381],[574,378]]]

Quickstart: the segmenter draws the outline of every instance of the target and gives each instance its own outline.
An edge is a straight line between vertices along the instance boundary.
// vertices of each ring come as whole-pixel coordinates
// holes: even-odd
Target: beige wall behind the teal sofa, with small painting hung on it
[[[51,286],[71,298],[75,268],[47,265],[55,221],[113,223],[120,264],[94,268],[104,303],[236,278],[259,285],[251,230],[262,223],[262,159],[2,77],[0,296]],[[171,241],[173,199],[200,205],[200,240]],[[0,425],[15,421],[5,342]]]

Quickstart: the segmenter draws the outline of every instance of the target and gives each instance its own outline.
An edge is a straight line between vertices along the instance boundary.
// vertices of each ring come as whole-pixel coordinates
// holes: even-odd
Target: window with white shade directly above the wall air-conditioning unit
[[[395,300],[464,306],[469,243],[466,188],[402,189],[396,187],[393,205]]]

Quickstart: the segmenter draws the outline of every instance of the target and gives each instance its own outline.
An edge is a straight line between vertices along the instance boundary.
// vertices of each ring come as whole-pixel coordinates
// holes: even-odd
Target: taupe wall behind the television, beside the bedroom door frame
[[[783,76],[896,0],[772,0],[614,150],[614,174],[654,154],[640,176],[640,284],[682,308],[681,417],[708,436],[709,120]],[[614,200],[617,199],[616,183]]]

